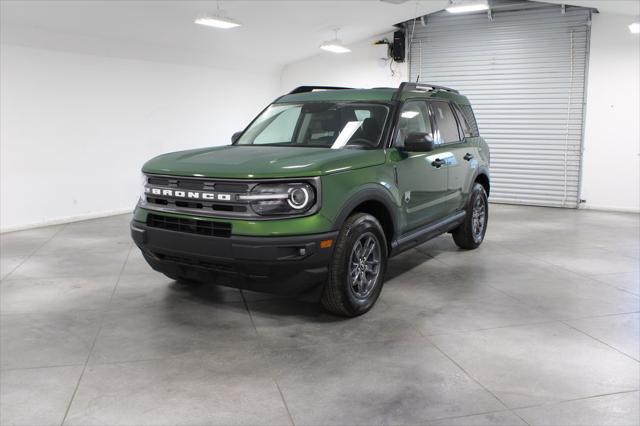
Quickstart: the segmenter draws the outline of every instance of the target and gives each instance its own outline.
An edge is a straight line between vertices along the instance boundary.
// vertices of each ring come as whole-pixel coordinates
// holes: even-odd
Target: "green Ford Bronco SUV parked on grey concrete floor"
[[[299,87],[230,146],[142,172],[131,233],[153,269],[346,316],[371,309],[389,257],[445,232],[474,249],[487,229],[489,149],[467,98],[429,84]]]

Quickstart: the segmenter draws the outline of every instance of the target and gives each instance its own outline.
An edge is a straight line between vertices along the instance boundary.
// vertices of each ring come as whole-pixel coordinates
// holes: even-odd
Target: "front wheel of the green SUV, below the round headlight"
[[[378,220],[356,213],[344,223],[320,299],[326,310],[355,317],[378,300],[387,267],[387,242]]]

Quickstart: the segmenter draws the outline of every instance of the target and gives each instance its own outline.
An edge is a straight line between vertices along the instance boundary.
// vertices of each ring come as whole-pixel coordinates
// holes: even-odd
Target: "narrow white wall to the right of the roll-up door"
[[[587,208],[640,211],[640,36],[629,32],[632,21],[593,16],[582,163]]]

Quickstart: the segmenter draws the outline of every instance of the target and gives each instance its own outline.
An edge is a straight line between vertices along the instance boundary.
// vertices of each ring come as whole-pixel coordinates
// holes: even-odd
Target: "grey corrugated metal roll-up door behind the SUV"
[[[590,9],[543,5],[407,23],[411,80],[471,101],[491,148],[491,201],[578,205],[590,20]]]

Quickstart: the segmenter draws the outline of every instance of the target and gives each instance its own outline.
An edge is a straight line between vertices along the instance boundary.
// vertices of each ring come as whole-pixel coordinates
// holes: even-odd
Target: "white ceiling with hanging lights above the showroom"
[[[221,1],[221,8],[243,24],[224,31],[193,23],[198,15],[215,11],[215,1],[2,0],[0,39],[2,43],[101,56],[275,71],[318,54],[318,46],[333,37],[336,27],[349,44],[448,4],[448,0],[399,1]],[[636,0],[566,3],[601,12],[640,13]]]

